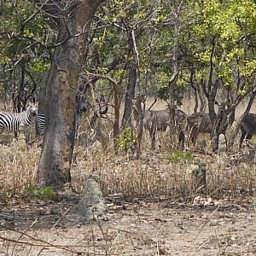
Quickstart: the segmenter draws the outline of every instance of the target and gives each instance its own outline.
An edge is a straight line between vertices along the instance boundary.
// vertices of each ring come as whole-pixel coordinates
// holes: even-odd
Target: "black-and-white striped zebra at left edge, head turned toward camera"
[[[26,147],[29,143],[29,130],[34,123],[35,117],[38,113],[38,104],[30,102],[26,110],[20,113],[0,112],[0,131],[3,129],[9,131],[24,130],[26,137]]]

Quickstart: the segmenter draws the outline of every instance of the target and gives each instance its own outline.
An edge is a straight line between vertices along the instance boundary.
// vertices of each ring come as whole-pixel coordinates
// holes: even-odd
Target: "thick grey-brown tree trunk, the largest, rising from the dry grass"
[[[90,26],[101,1],[72,1],[59,21],[58,43],[46,90],[44,144],[38,184],[58,187],[70,181],[73,156],[75,96],[85,47],[84,28]],[[72,35],[76,35],[72,37]]]

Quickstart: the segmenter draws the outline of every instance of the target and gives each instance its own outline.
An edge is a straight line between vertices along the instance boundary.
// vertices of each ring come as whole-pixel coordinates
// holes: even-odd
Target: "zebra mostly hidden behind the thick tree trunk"
[[[79,121],[83,115],[88,110],[88,102],[84,100],[84,97],[77,96],[76,98],[76,112],[75,112],[75,136],[77,136],[79,130]],[[45,125],[45,113],[38,113],[36,117],[36,135],[41,137],[44,135],[44,125]]]

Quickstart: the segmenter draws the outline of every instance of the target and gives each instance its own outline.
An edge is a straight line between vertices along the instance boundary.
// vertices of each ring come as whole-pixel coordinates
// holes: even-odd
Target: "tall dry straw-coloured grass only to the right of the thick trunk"
[[[189,167],[191,160],[168,163],[169,153],[146,152],[141,160],[125,160],[123,156],[114,156],[111,152],[94,151],[79,148],[75,166],[73,166],[73,186],[83,188],[84,177],[94,173],[102,183],[103,193],[120,194],[125,199],[135,197],[187,198],[193,195],[190,186]],[[253,166],[235,164],[219,168],[217,159],[202,156],[207,161],[207,193],[213,197],[252,195],[256,189],[256,170]]]

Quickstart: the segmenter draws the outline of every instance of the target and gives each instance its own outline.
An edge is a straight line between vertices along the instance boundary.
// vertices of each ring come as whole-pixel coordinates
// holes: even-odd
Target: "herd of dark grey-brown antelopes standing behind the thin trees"
[[[192,143],[194,147],[199,133],[207,133],[212,138],[213,124],[209,113],[197,112],[187,115],[181,109],[176,108],[174,120],[174,127],[171,128],[174,128],[174,131],[177,132],[178,143],[182,149],[184,148],[185,137],[188,137],[188,142]],[[169,108],[164,110],[147,110],[145,112],[143,126],[145,130],[149,131],[152,149],[155,148],[155,132],[166,131],[169,122]],[[253,134],[256,134],[256,113],[243,114],[239,125],[241,131],[239,150],[241,150],[243,141],[245,139],[247,141],[250,140]]]

